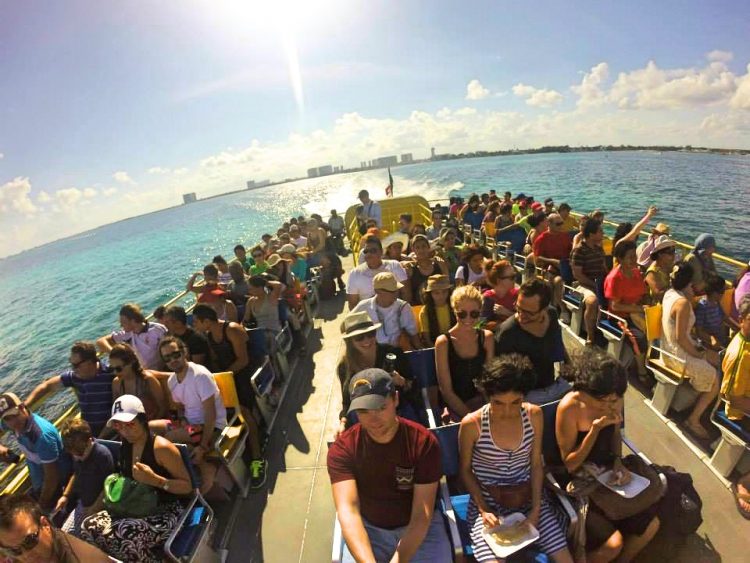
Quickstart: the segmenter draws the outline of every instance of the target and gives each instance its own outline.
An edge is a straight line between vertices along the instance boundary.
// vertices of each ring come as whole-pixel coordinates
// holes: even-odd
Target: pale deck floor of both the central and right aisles
[[[348,262],[348,261],[347,261]],[[269,443],[266,490],[235,499],[228,532],[229,562],[325,562],[331,556],[334,507],[326,471],[327,442],[338,423],[339,357],[343,296],[320,303],[308,337],[308,355],[295,370],[279,424]],[[675,544],[659,536],[638,561],[747,561],[750,522],[735,509],[731,492],[701,457],[645,403],[634,388],[626,395],[626,435],[652,461],[690,473],[703,499],[703,524]],[[221,522],[226,525],[226,518]],[[222,525],[220,524],[220,526]]]

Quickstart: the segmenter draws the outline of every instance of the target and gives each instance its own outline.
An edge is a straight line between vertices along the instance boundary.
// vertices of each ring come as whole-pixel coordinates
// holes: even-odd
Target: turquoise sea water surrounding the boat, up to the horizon
[[[712,232],[719,251],[750,258],[750,157],[617,152],[542,154],[415,164],[393,170],[395,195],[427,199],[494,188],[601,208],[637,221],[648,205],[673,236]],[[292,215],[384,197],[385,170],[302,180],[121,221],[0,261],[0,390],[20,395],[66,366],[70,345],[117,326],[121,304],[151,312],[215,254],[230,259]],[[59,408],[52,405],[51,408]]]

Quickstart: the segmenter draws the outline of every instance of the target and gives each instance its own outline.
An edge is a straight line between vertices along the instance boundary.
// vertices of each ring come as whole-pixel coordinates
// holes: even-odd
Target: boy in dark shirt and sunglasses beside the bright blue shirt
[[[104,508],[104,480],[115,472],[115,462],[107,446],[94,440],[85,420],[70,418],[60,429],[65,451],[73,457],[73,475],[57,500],[55,512],[68,507],[72,499],[73,533],[78,535],[81,522]]]

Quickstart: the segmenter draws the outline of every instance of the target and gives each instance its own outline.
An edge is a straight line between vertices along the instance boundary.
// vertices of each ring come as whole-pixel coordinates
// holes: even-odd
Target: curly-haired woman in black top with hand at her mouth
[[[627,375],[614,358],[586,348],[568,366],[573,391],[560,401],[555,434],[565,468],[578,471],[584,463],[630,473],[622,463],[623,396]],[[643,512],[610,521],[593,502],[586,515],[587,561],[631,561],[659,529],[658,503]]]

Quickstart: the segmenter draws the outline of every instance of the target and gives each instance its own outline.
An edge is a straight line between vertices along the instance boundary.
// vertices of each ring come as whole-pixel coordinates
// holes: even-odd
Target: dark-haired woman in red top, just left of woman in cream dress
[[[646,378],[646,319],[643,301],[646,285],[638,268],[635,256],[636,244],[632,240],[620,240],[615,244],[613,256],[617,265],[604,278],[604,296],[609,300],[610,312],[624,318],[638,344],[635,361],[638,377]]]

